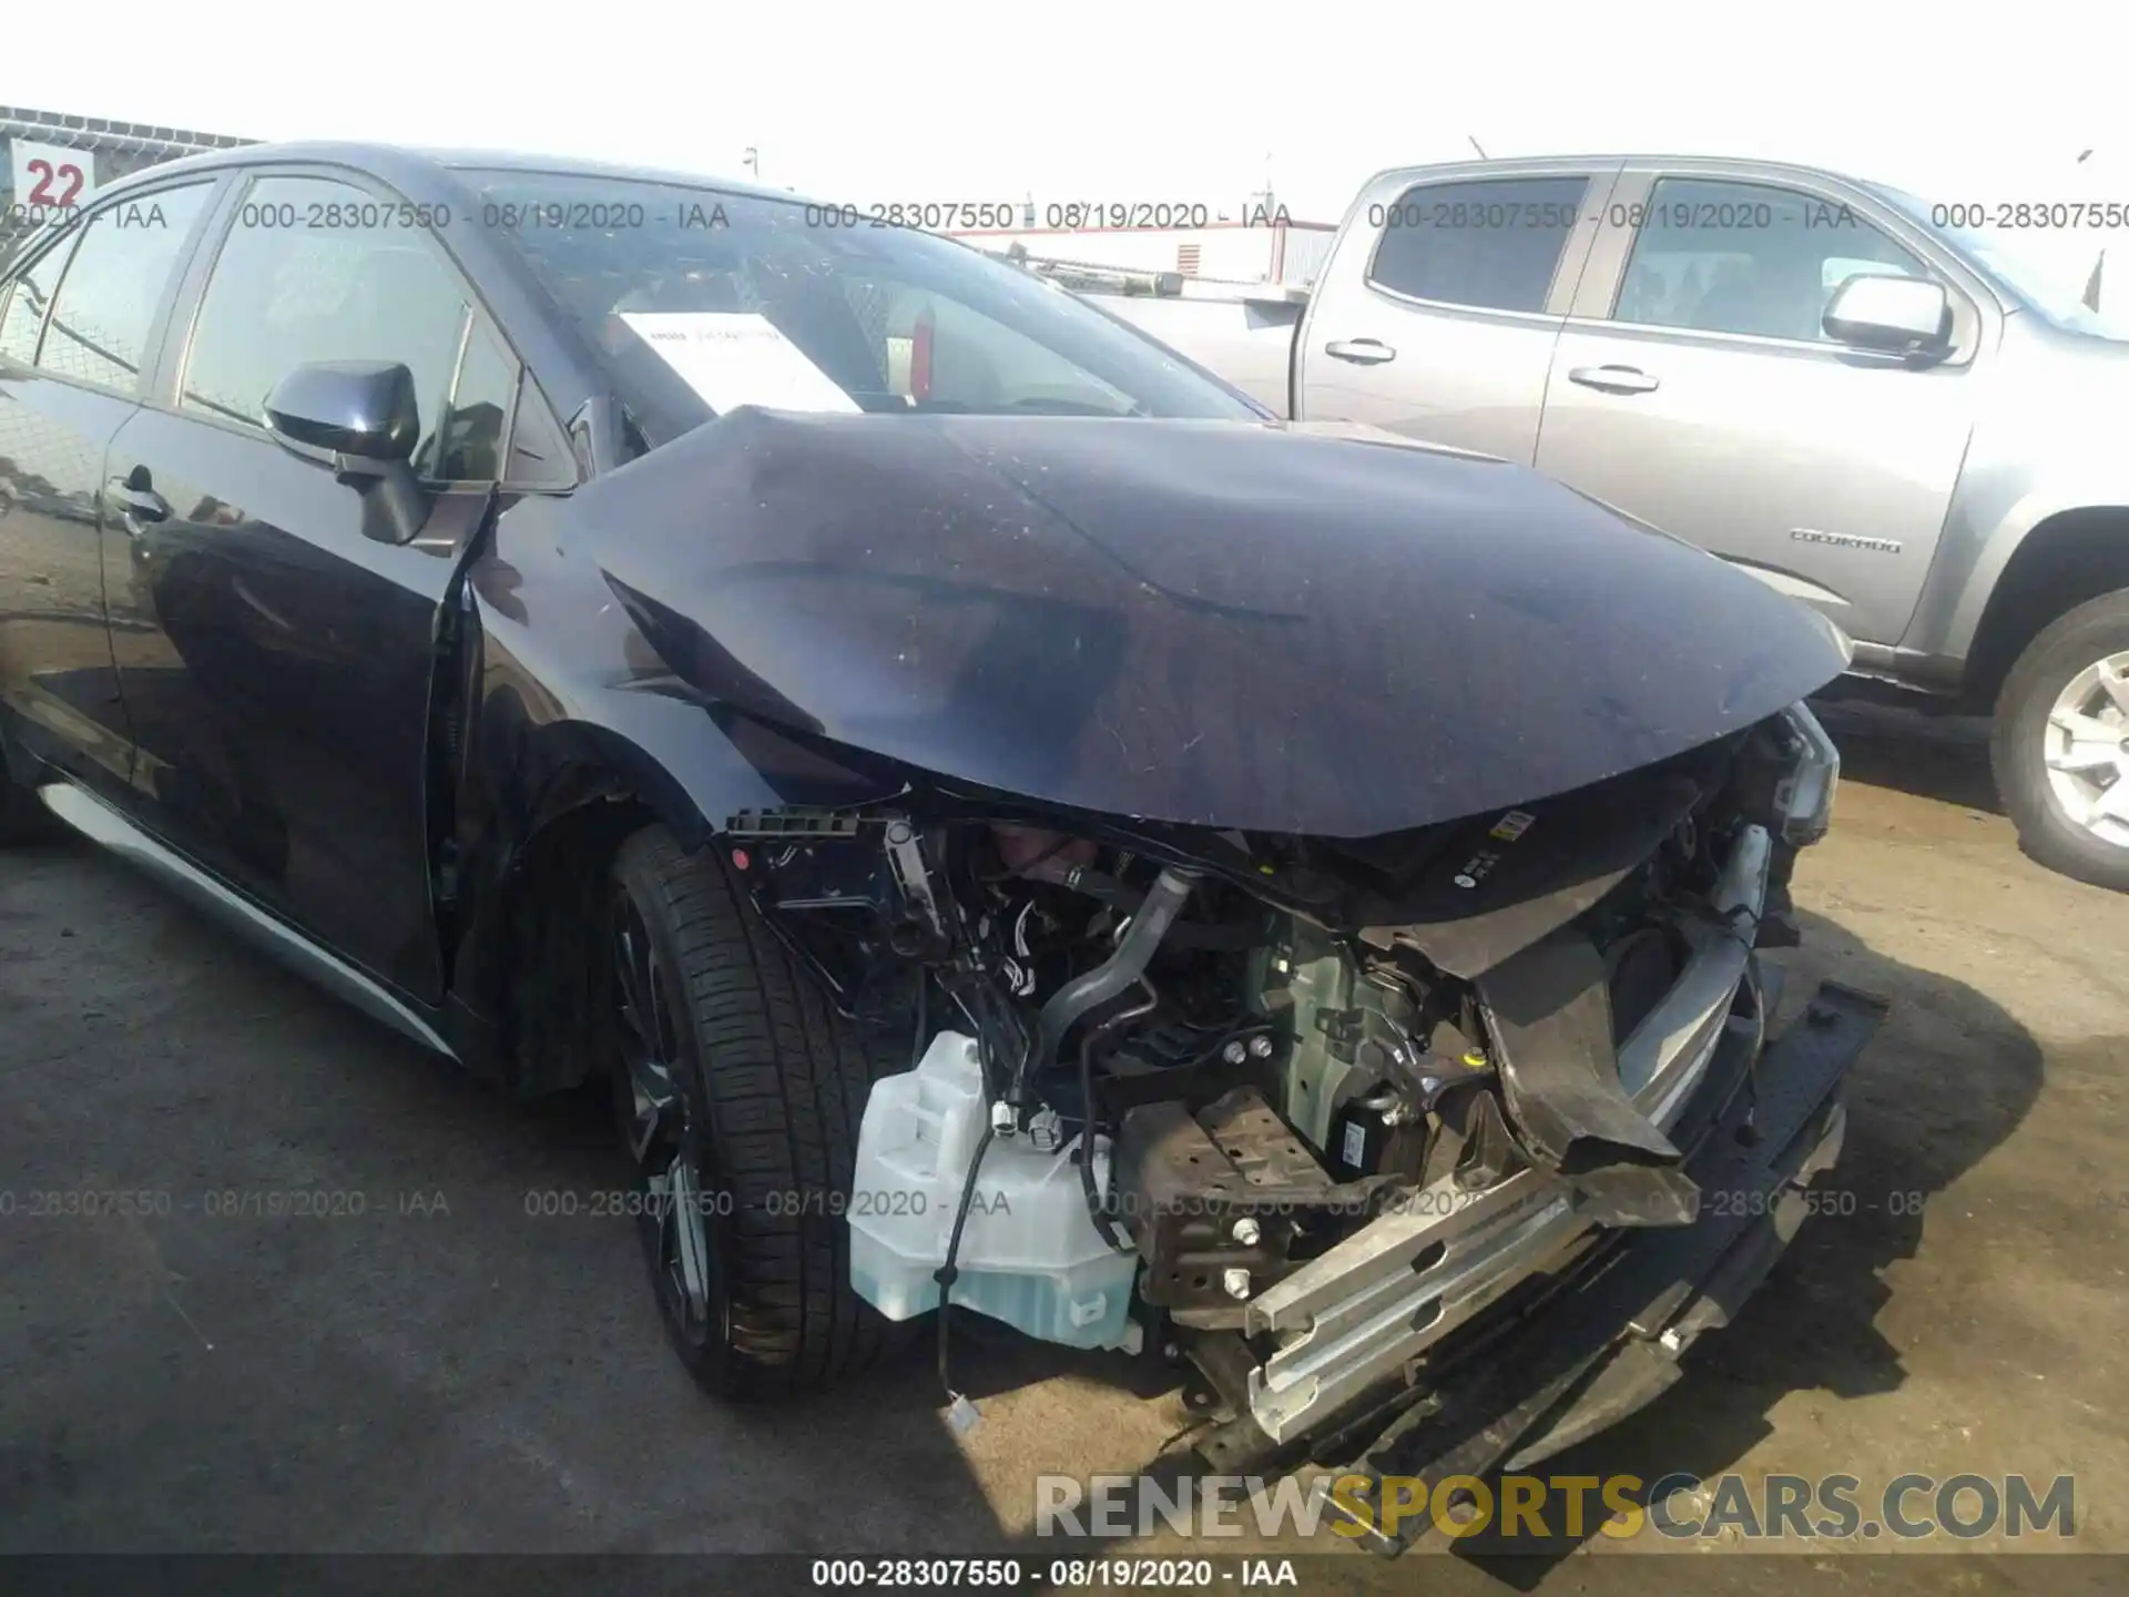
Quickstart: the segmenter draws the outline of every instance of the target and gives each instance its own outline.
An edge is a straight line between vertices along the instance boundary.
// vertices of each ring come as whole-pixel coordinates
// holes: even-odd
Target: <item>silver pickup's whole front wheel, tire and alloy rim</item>
[[[2129,892],[2129,590],[2078,605],[2027,645],[1988,752],[2025,852]]]

